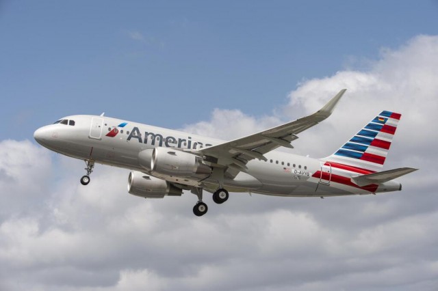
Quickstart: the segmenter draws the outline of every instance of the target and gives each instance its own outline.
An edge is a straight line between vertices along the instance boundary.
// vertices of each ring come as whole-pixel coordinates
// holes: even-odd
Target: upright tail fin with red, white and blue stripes
[[[381,171],[401,116],[382,111],[326,161],[370,172]]]

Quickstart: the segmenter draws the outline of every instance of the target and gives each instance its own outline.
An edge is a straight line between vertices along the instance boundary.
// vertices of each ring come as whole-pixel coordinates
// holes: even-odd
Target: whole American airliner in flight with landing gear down
[[[333,113],[342,89],[322,109],[298,120],[231,141],[120,120],[72,115],[34,133],[40,145],[86,163],[87,185],[94,164],[130,169],[128,193],[144,198],[198,197],[196,216],[207,213],[203,190],[222,204],[234,193],[331,197],[401,191],[396,178],[417,169],[382,171],[401,114],[382,111],[334,154],[310,158],[275,151],[294,148],[298,134]]]

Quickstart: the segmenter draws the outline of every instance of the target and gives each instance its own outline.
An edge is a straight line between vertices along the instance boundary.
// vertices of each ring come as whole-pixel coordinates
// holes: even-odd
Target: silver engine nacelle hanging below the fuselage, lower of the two
[[[164,196],[181,196],[183,190],[169,182],[147,176],[141,171],[131,171],[128,178],[128,193],[144,198],[164,198]]]

